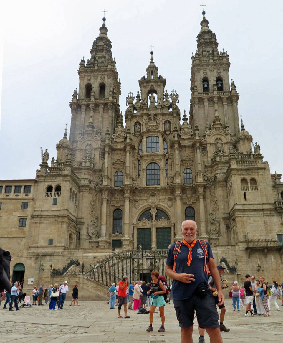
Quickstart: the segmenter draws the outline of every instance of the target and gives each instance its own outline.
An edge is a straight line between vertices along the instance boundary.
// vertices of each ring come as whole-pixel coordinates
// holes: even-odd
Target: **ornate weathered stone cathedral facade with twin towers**
[[[0,181],[1,247],[13,256],[13,281],[24,271],[26,284],[47,282],[49,265],[86,264],[113,249],[167,250],[185,219],[240,279],[246,272],[282,279],[281,174],[270,174],[240,125],[229,56],[208,24],[204,15],[189,111],[180,112],[151,51],[122,114],[103,18],[90,58],[79,63],[69,139],[65,130],[57,158],[46,150],[34,180]]]

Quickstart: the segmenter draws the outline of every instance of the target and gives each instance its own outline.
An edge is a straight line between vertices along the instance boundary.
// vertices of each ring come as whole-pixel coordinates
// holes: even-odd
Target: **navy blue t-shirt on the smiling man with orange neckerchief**
[[[201,243],[202,246],[204,246],[203,243]],[[211,258],[213,258],[211,247],[208,242],[207,244],[207,254],[208,254],[208,261]],[[168,251],[168,256],[166,260],[167,265],[174,265],[174,251],[175,244],[173,243]],[[204,246],[205,248],[205,246]],[[183,300],[187,299],[190,296],[193,295],[194,291],[196,290],[197,286],[200,283],[205,283],[207,287],[208,285],[208,275],[206,273],[206,269],[204,271],[204,265],[205,265],[205,256],[204,251],[197,240],[197,243],[192,249],[192,262],[190,262],[190,266],[188,266],[188,255],[189,255],[189,248],[182,243],[180,247],[180,252],[178,253],[176,257],[176,269],[175,272],[178,274],[186,273],[186,274],[193,274],[195,275],[193,279],[195,281],[192,281],[191,283],[184,283],[181,281],[173,280],[172,281],[172,298],[173,301],[175,300]]]

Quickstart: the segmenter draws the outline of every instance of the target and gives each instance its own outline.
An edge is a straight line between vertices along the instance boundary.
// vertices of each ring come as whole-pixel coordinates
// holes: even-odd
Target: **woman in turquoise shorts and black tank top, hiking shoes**
[[[159,307],[159,313],[161,316],[161,327],[158,330],[158,332],[164,332],[164,306],[165,306],[165,300],[163,297],[163,294],[166,294],[166,289],[163,285],[163,283],[158,280],[159,272],[157,270],[153,270],[151,272],[151,288],[150,293],[152,294],[152,300],[151,300],[151,306],[149,310],[149,327],[146,329],[147,332],[152,332],[152,322],[153,322],[153,313],[156,309],[156,307]]]

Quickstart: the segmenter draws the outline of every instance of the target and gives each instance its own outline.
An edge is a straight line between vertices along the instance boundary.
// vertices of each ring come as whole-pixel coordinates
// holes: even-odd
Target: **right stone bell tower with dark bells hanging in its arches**
[[[218,50],[216,35],[209,28],[205,11],[197,36],[197,51],[192,56],[190,121],[204,135],[214,117],[219,117],[231,136],[239,132],[236,86],[229,82],[229,55]]]

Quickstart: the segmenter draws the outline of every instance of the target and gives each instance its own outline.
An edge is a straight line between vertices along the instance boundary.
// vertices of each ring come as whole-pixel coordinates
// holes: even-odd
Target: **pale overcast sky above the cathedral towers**
[[[112,54],[125,97],[139,90],[153,45],[168,91],[179,93],[189,112],[192,52],[202,20],[197,1],[13,1],[1,5],[3,33],[0,179],[32,179],[40,146],[56,158],[56,143],[70,128],[78,64],[99,35],[104,7]],[[230,82],[239,93],[245,129],[260,143],[271,173],[282,161],[282,2],[205,2],[206,18],[219,50],[230,58]],[[0,27],[1,28],[1,27]],[[0,54],[0,62],[1,62]],[[0,72],[1,77],[1,72]],[[1,84],[0,84],[1,85]],[[69,130],[68,130],[69,137]]]

